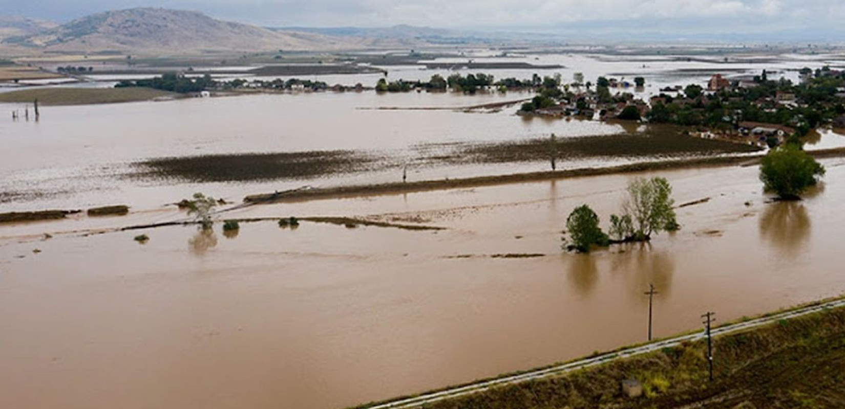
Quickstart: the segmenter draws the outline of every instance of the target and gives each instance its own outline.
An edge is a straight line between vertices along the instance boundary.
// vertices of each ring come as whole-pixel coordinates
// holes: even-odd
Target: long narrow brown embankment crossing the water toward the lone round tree
[[[831,148],[809,152],[815,158],[837,158],[845,156],[845,148]],[[274,192],[250,195],[243,198],[248,203],[279,203],[279,202],[307,202],[310,200],[330,199],[336,197],[378,196],[384,194],[401,194],[417,191],[439,191],[463,187],[496,186],[510,183],[532,182],[542,180],[559,180],[584,176],[601,176],[614,174],[628,174],[653,170],[682,170],[695,167],[719,167],[743,164],[755,156],[718,156],[711,158],[674,159],[660,162],[638,162],[623,164],[607,168],[582,168],[576,170],[555,170],[511,175],[477,176],[463,179],[421,180],[417,182],[395,182],[379,185],[336,186],[313,188],[308,190]]]

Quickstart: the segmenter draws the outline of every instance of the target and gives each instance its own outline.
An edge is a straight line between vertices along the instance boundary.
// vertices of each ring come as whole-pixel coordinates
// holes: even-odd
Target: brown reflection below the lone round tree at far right
[[[798,256],[810,239],[810,216],[801,202],[775,202],[760,215],[760,239],[788,258]]]

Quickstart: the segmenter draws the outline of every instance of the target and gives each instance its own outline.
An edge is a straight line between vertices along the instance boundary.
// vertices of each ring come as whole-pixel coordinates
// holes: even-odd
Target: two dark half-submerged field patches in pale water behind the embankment
[[[655,132],[559,138],[554,143],[543,139],[501,143],[430,143],[414,146],[411,150],[410,158],[401,152],[373,153],[363,150],[232,153],[158,158],[135,163],[130,175],[141,179],[194,182],[298,180],[373,172],[401,167],[404,164],[415,167],[515,164],[548,161],[552,156],[561,164],[571,159],[689,159],[690,164],[704,165],[711,161],[706,159],[708,157],[717,164],[736,163],[736,160],[712,157],[731,153],[754,153],[760,151],[760,148],[742,143],[689,137],[681,134],[677,128],[661,128]],[[702,158],[705,159],[694,160]],[[678,163],[675,167],[681,165],[683,164]],[[615,169],[613,166],[607,167]],[[650,169],[659,167],[664,166],[655,164]],[[641,166],[635,170],[643,169],[645,168]],[[592,173],[575,172],[573,175],[587,174]],[[493,177],[501,176],[491,176]],[[513,177],[519,178],[519,175]]]

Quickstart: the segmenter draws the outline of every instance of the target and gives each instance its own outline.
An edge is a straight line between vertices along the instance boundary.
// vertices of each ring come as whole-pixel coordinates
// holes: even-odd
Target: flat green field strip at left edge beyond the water
[[[39,88],[0,94],[0,103],[41,105],[117,104],[173,97],[175,94],[149,88]]]

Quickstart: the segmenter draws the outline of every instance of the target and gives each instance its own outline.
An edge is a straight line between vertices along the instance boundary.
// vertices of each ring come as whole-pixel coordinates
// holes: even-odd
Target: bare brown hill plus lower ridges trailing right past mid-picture
[[[29,50],[197,54],[204,51],[352,50],[482,42],[452,30],[397,25],[381,29],[264,28],[184,10],[130,8],[67,24],[0,18],[0,42]]]

